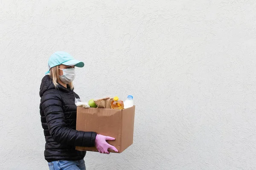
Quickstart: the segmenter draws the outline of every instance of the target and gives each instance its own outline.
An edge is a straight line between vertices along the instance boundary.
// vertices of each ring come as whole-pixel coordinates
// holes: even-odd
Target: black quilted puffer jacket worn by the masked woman
[[[75,147],[94,146],[96,133],[76,130],[75,97],[79,96],[62,85],[56,89],[46,75],[42,79],[40,97],[40,115],[46,140],[45,159],[48,162],[83,159],[85,151],[78,151]]]

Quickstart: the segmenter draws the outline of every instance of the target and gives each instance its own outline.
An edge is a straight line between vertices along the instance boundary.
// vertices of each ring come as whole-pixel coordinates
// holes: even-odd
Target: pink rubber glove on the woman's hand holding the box
[[[108,144],[108,142],[106,142],[106,140],[113,141],[113,140],[115,140],[115,138],[112,138],[109,136],[103,136],[103,135],[99,135],[99,134],[96,135],[95,145],[96,145],[96,148],[99,151],[99,153],[109,154],[108,149],[113,149],[114,151],[118,152],[116,147]]]

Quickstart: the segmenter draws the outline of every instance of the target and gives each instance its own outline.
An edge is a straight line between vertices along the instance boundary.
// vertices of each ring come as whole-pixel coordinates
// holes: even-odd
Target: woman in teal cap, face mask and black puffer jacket
[[[40,115],[46,140],[44,156],[50,170],[85,170],[85,151],[76,146],[93,147],[100,153],[117,149],[106,140],[115,140],[95,132],[76,130],[75,98],[72,81],[75,79],[75,66],[83,67],[80,62],[64,52],[52,54],[48,61],[49,71],[40,86]]]

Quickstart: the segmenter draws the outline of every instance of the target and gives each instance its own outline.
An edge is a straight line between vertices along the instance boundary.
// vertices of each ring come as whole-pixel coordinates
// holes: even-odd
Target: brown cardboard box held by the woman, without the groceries
[[[107,141],[116,147],[118,153],[133,143],[135,106],[123,110],[106,108],[77,108],[76,130],[93,131],[111,136]],[[76,150],[96,151],[96,147],[76,147]],[[109,152],[115,153],[113,150]]]

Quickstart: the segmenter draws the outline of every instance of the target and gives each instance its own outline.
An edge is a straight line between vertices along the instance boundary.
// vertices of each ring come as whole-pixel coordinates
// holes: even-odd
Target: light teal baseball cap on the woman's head
[[[48,60],[49,70],[45,73],[48,74],[52,67],[57,65],[75,65],[76,67],[84,67],[84,62],[78,61],[65,51],[56,51]]]

